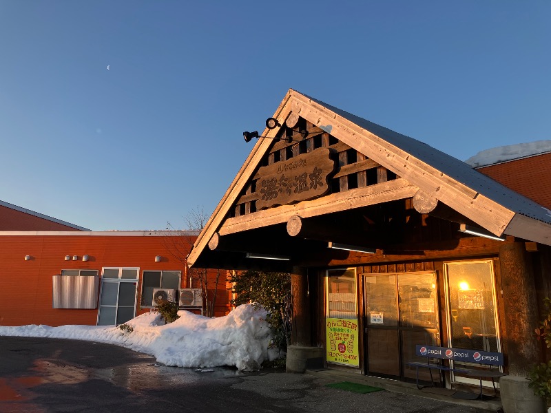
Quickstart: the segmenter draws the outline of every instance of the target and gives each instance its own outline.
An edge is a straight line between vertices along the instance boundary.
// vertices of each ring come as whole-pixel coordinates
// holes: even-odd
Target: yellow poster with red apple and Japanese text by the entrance
[[[357,319],[325,319],[326,357],[331,363],[360,366]]]

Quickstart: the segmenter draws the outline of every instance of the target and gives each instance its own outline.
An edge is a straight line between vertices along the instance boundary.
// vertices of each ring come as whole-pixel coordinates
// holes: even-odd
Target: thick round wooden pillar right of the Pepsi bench
[[[499,265],[509,374],[527,377],[530,366],[539,361],[539,346],[533,334],[539,317],[534,273],[524,243],[503,244]]]

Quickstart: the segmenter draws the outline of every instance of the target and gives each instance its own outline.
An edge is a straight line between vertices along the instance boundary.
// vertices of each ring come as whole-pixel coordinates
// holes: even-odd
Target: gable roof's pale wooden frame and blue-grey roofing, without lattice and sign
[[[357,162],[358,165],[364,168],[374,165],[383,167],[396,178],[295,204],[262,211],[251,212],[247,209],[243,215],[232,213],[240,200],[254,199],[250,194],[250,184],[262,162],[271,156],[274,148],[284,149],[283,142],[274,143],[272,139],[281,131],[264,129],[261,136],[267,138],[259,138],[256,142],[196,240],[188,257],[190,266],[194,265],[215,235],[282,224],[294,215],[311,218],[411,198],[416,193],[447,205],[495,235],[513,235],[551,245],[551,211],[503,187],[466,163],[418,140],[289,89],[273,118],[284,125],[286,120],[289,123],[289,118],[293,118],[292,123],[295,123],[299,116],[313,127],[311,130],[330,134],[341,145],[347,145],[359,156],[364,156],[365,160]],[[370,162],[371,165],[367,165]]]

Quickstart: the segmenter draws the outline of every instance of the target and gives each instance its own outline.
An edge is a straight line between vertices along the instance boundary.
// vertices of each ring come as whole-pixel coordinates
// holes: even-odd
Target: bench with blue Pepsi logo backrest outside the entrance
[[[434,386],[433,370],[444,370],[448,372],[465,374],[467,377],[477,377],[480,381],[480,393],[478,396],[482,399],[482,379],[492,380],[494,396],[497,396],[495,379],[507,375],[506,373],[499,372],[499,370],[492,370],[492,366],[503,366],[503,354],[500,352],[468,350],[466,348],[423,346],[418,344],[415,346],[415,354],[418,357],[426,358],[426,363],[420,361],[409,361],[406,363],[407,366],[415,367],[415,383],[417,384],[417,388],[419,390],[424,387]],[[467,368],[449,367],[439,363],[430,363],[430,359],[477,363],[480,365],[489,366],[490,370],[472,370]],[[428,368],[430,373],[430,386],[419,386],[419,368]]]

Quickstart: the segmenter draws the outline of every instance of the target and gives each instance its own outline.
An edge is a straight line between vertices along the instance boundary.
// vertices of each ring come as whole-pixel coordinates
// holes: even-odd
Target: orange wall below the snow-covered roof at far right
[[[477,171],[551,209],[551,153],[504,162]]]

